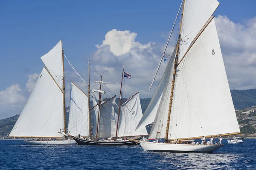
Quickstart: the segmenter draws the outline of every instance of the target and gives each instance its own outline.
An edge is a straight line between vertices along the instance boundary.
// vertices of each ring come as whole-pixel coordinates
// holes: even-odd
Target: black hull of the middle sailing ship
[[[99,146],[134,146],[138,145],[135,141],[92,141],[73,137],[78,145],[99,145]]]

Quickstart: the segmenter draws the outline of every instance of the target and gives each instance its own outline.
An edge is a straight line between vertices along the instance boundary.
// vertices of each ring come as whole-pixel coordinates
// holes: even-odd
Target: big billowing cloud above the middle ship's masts
[[[128,98],[137,91],[140,91],[140,97],[152,95],[148,94],[148,86],[160,60],[160,48],[154,42],[141,44],[135,40],[136,36],[134,32],[113,29],[106,34],[101,45],[96,45],[93,68],[97,73],[103,72],[103,80],[107,82],[111,95],[119,93],[123,65],[125,72],[131,74],[131,79],[123,79],[122,89],[127,94],[124,97]]]

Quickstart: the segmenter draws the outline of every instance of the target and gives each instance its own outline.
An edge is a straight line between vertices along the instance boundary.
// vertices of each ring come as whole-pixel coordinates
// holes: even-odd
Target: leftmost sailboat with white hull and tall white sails
[[[76,144],[62,134],[66,133],[62,40],[41,59],[45,67],[9,137],[32,138],[25,141],[28,144]]]

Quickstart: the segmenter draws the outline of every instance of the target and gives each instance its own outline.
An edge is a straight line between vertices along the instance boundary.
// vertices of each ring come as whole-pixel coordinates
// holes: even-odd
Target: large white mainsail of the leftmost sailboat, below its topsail
[[[44,68],[9,136],[62,137],[63,93]]]

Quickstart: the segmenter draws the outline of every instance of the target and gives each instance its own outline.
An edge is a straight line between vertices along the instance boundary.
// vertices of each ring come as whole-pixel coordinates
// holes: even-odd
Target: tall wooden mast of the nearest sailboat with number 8
[[[171,110],[172,110],[172,98],[173,98],[173,90],[174,90],[175,77],[176,77],[176,69],[177,69],[177,65],[178,65],[178,52],[179,52],[179,47],[180,47],[180,33],[181,33],[181,27],[182,27],[184,6],[185,6],[185,1],[183,1],[183,8],[182,8],[182,14],[181,14],[181,20],[180,20],[180,32],[179,32],[179,38],[178,38],[177,46],[176,46],[177,49],[176,49],[176,54],[175,54],[175,63],[174,63],[174,70],[173,70],[173,76],[172,76],[172,89],[171,89],[171,97],[170,97],[170,103],[169,103],[165,142],[168,142],[169,124],[170,124],[170,117],[171,117]]]

